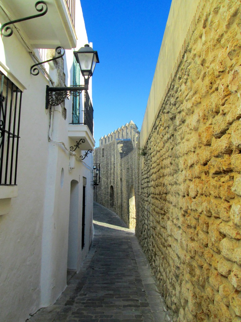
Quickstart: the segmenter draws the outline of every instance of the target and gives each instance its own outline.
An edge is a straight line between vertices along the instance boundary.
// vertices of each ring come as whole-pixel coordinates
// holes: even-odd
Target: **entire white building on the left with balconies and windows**
[[[85,156],[94,149],[91,79],[78,98],[46,104],[47,85],[84,84],[73,64],[73,50],[88,43],[80,2],[0,1],[0,25],[41,13],[9,24],[12,35],[5,29],[0,39],[2,322],[52,304],[93,238],[93,155]],[[32,75],[32,65],[60,55],[58,46],[63,58]]]

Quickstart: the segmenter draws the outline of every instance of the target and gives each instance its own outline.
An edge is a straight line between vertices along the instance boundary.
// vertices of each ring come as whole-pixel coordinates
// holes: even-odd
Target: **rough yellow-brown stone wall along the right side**
[[[238,322],[241,9],[203,5],[146,139],[138,236],[179,322]]]

